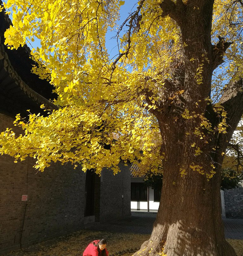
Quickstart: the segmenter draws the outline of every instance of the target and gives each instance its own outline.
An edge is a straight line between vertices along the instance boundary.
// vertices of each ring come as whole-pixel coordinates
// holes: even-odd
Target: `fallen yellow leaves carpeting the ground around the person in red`
[[[150,235],[81,230],[13,251],[5,256],[82,256],[91,241],[102,238],[107,240],[109,255],[131,256],[135,250],[139,250],[144,241],[150,238]],[[243,255],[243,240],[227,239],[227,241],[234,247],[238,256]]]

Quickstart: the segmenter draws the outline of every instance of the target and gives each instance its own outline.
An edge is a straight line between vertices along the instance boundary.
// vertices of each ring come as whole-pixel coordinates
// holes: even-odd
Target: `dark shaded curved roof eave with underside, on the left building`
[[[4,45],[4,32],[10,24],[9,17],[0,12],[0,111],[27,116],[26,109],[32,113],[43,112],[42,104],[47,109],[57,109],[47,100],[56,96],[52,93],[53,87],[31,72],[34,61],[29,48],[25,45],[10,50]]]

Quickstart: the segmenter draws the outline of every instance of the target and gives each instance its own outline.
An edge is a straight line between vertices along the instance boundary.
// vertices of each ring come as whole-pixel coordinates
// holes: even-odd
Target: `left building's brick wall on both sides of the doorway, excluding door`
[[[0,113],[0,132],[13,120]],[[14,163],[12,157],[0,156],[0,255],[84,228],[86,174],[81,167],[53,163],[37,172],[33,165],[32,158]],[[97,178],[96,220],[131,214],[130,172],[123,165],[121,169],[117,176],[104,170]],[[22,195],[28,195],[28,201],[22,201]]]

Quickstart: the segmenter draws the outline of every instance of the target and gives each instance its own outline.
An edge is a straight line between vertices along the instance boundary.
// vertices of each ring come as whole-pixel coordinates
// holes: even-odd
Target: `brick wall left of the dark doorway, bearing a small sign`
[[[13,122],[0,114],[0,129]],[[37,172],[33,159],[0,156],[0,254],[84,227],[85,173],[53,163]],[[28,201],[22,195],[28,194]]]

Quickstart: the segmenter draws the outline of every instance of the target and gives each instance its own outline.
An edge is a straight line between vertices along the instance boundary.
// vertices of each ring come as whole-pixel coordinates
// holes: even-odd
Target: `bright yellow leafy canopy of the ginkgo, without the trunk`
[[[11,8],[13,22],[5,32],[6,44],[18,48],[40,40],[40,47],[32,49],[33,58],[41,67],[34,67],[34,72],[50,79],[58,94],[54,104],[59,109],[50,111],[46,117],[30,114],[28,122],[17,116],[15,123],[24,132],[20,136],[9,129],[1,133],[0,152],[16,160],[27,155],[34,157],[35,168],[41,171],[51,161],[70,161],[74,165],[82,163],[84,171],[95,168],[100,173],[103,167],[110,167],[117,173],[117,164],[123,159],[140,164],[143,172],[158,172],[164,154],[153,110],[165,99],[173,102],[184,93],[178,90],[168,96],[165,80],[172,78],[172,65],[187,47],[178,24],[163,14],[160,3],[160,0],[141,0],[136,4],[123,27],[117,30],[115,57],[109,56],[106,49],[106,34],[108,29],[116,29],[124,1],[4,3],[6,10]],[[216,45],[218,35],[234,42],[227,51],[222,72],[214,75],[215,101],[229,77],[236,72],[238,77],[242,76],[240,22],[240,2],[215,1],[212,43]],[[207,53],[202,59],[208,61]],[[190,61],[197,65],[197,56],[191,56]],[[194,74],[197,86],[203,83],[203,65],[199,63]],[[218,112],[219,107],[215,108]],[[185,109],[182,115],[186,119],[201,118],[201,127],[211,129],[202,114]],[[218,131],[225,132],[223,122]],[[202,132],[196,132],[195,136],[204,138]],[[110,150],[104,149],[104,145],[110,145]],[[199,147],[195,149],[196,154],[201,154]]]

